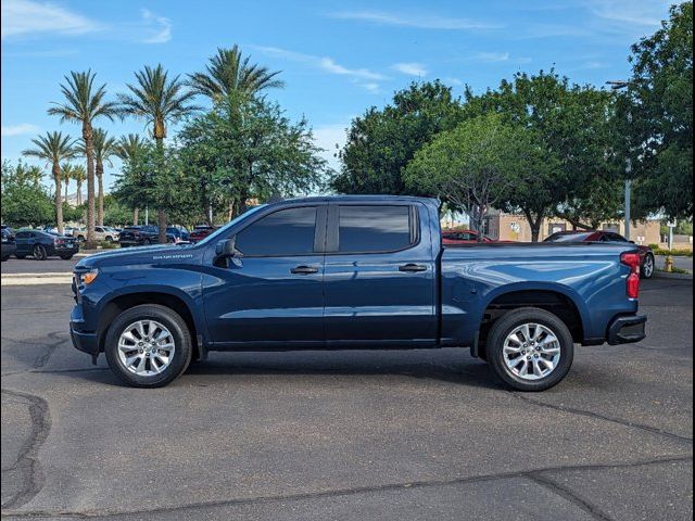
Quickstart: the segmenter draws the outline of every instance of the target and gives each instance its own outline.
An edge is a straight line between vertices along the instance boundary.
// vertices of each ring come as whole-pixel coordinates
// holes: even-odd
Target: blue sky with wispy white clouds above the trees
[[[62,101],[60,82],[70,71],[91,68],[115,97],[143,65],[162,63],[186,77],[218,47],[237,43],[252,62],[281,71],[286,87],[268,97],[291,118],[307,118],[337,168],[336,145],[351,119],[414,80],[439,78],[460,96],[465,85],[480,92],[517,72],[551,67],[578,84],[627,78],[630,46],[658,29],[669,2],[2,0],[1,7],[3,160],[21,157],[38,134],[80,136],[78,125],[47,114]],[[96,125],[113,136],[148,131],[136,119]],[[106,165],[106,187],[117,170],[117,163]]]

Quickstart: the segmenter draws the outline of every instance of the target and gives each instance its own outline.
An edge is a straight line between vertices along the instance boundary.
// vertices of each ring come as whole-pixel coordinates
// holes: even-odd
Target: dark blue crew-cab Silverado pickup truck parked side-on
[[[435,200],[336,196],[257,206],[197,244],[75,266],[75,347],[154,387],[211,351],[468,346],[542,391],[574,344],[644,339],[629,243],[442,246]]]

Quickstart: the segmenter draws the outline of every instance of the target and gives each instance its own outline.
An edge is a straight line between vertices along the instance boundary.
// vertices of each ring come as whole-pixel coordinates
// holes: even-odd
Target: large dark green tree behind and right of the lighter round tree
[[[525,214],[532,240],[551,215],[587,228],[585,221],[596,219],[596,209],[615,214],[620,198],[615,191],[598,191],[621,176],[615,149],[615,94],[541,71],[518,73],[481,96],[467,88],[465,99],[466,117],[497,113],[533,132],[545,150],[547,164],[539,165],[538,175],[506,204],[507,209],[517,207]],[[585,213],[590,211],[591,215]]]

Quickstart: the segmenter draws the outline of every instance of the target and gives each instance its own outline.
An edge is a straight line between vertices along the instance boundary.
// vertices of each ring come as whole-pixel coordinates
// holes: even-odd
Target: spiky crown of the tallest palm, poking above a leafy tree
[[[189,85],[197,94],[206,96],[217,103],[236,96],[253,96],[270,88],[282,88],[285,82],[277,79],[280,71],[270,72],[267,67],[250,64],[251,58],[243,56],[241,49],[217,49],[204,73],[189,75]]]

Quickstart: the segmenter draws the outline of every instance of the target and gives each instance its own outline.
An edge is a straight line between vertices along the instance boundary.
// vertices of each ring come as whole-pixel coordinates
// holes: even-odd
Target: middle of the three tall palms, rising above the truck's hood
[[[127,85],[130,91],[119,94],[121,112],[143,118],[152,126],[152,137],[159,151],[164,150],[166,127],[184,116],[198,110],[190,104],[194,93],[185,89],[185,82],[175,76],[168,79],[168,73],[159,64],[155,67],[146,65],[143,71],[135,73],[137,85]],[[166,214],[163,208],[157,209],[157,226],[160,242],[166,242]]]

